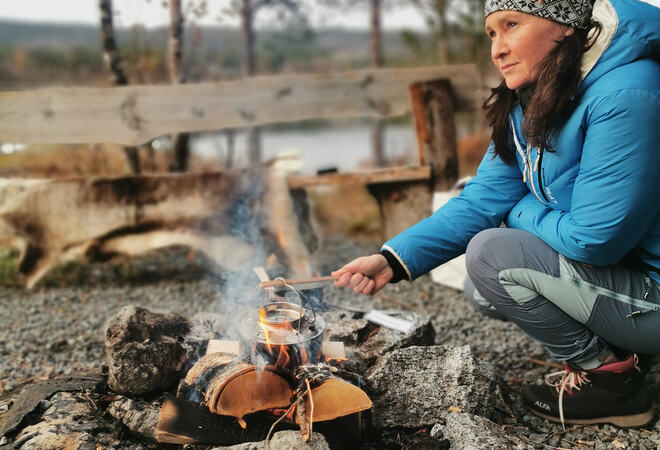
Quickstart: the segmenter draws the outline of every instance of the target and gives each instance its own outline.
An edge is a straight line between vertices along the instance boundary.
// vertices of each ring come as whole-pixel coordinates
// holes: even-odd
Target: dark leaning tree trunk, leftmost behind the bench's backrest
[[[115,29],[112,21],[112,0],[99,0],[101,11],[101,42],[103,56],[112,74],[112,83],[116,86],[126,86],[128,78],[122,67],[121,57],[115,40]],[[131,172],[140,173],[140,154],[137,147],[124,147]]]

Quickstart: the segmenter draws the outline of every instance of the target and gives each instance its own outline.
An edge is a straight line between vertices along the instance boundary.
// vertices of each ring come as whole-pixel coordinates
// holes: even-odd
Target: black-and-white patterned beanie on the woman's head
[[[485,16],[495,11],[520,11],[575,28],[587,28],[593,0],[486,0]]]

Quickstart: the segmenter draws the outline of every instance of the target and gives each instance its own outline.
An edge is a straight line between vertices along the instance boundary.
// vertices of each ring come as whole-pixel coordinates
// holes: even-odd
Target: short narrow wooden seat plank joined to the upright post
[[[322,184],[383,184],[401,181],[429,180],[431,168],[394,167],[364,172],[327,173],[323,175],[295,175],[288,178],[289,188],[304,188]]]

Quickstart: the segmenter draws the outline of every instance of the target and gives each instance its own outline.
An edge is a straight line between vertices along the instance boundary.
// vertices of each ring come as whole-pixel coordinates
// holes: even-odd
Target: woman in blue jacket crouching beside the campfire
[[[487,306],[566,363],[525,389],[534,413],[644,425],[634,352],[660,353],[658,2],[488,0],[485,28],[504,81],[476,177],[335,283],[372,295],[465,252]]]

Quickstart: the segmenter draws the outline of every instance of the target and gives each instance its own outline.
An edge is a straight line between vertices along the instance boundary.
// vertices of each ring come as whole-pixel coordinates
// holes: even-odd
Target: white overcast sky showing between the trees
[[[183,0],[184,9],[188,4]],[[219,21],[222,8],[229,0],[209,0],[209,14],[197,22],[204,25],[237,25],[237,22],[226,17]],[[367,2],[364,2],[365,6]],[[42,23],[86,23],[98,24],[98,0],[0,0],[0,19],[26,20]],[[168,23],[169,17],[161,0],[114,0],[114,9],[117,11],[115,24],[118,26],[131,26],[141,23],[147,27],[154,27]],[[263,25],[272,17],[267,14],[257,16],[257,25]],[[260,23],[261,22],[261,23]],[[343,26],[347,28],[366,28],[369,23],[367,8],[356,8],[350,14],[332,14],[327,17],[313,18],[314,26]],[[272,22],[271,22],[272,23]],[[394,11],[385,11],[382,19],[385,29],[424,28],[423,19],[414,8],[398,8]]]

